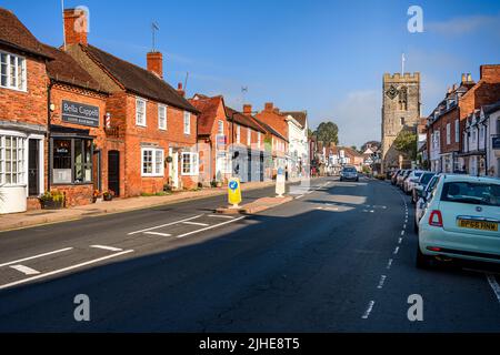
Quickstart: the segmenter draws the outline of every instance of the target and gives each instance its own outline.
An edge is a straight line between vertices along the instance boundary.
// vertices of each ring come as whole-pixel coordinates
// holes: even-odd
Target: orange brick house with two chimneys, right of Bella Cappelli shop
[[[78,24],[78,26],[77,26]],[[110,93],[110,126],[124,143],[108,151],[113,161],[109,180],[119,181],[116,193],[136,196],[198,184],[198,110],[163,80],[162,54],[147,53],[144,70],[88,43],[87,14],[64,10],[67,52]],[[112,173],[112,176],[111,176]]]

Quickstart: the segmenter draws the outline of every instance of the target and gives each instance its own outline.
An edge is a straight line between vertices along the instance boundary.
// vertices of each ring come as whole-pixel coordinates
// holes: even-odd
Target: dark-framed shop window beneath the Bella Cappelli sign
[[[54,184],[92,182],[92,140],[53,139],[51,152],[52,182]]]

